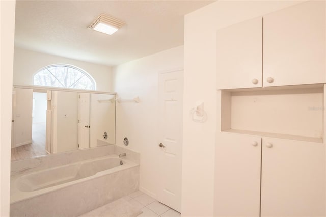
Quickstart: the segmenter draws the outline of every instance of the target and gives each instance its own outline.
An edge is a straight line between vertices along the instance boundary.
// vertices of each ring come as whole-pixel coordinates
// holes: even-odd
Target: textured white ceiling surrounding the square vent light
[[[15,46],[119,65],[182,45],[183,16],[212,2],[16,1]],[[117,17],[126,25],[113,35],[88,30],[101,13]]]

